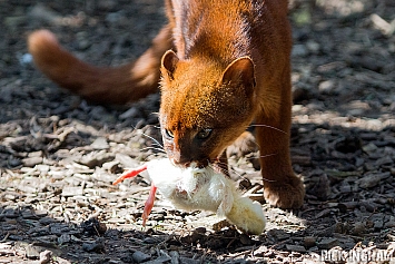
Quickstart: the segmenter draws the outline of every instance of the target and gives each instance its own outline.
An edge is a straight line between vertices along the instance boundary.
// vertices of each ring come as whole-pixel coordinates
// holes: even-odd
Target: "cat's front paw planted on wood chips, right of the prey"
[[[283,209],[297,209],[303,205],[305,186],[300,178],[292,176],[287,182],[265,182],[265,199]]]

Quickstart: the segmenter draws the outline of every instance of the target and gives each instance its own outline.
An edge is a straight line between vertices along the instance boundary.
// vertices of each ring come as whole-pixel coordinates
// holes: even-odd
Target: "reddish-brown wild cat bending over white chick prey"
[[[78,60],[45,30],[29,37],[29,50],[50,79],[103,104],[156,92],[161,76],[162,138],[179,166],[223,162],[226,147],[254,121],[266,201],[300,207],[304,186],[289,158],[287,1],[167,0],[166,9],[169,22],[152,46],[119,68]]]

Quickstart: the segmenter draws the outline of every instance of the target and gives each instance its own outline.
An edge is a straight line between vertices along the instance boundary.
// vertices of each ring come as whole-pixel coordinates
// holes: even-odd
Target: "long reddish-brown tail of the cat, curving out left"
[[[28,46],[34,65],[59,86],[90,101],[120,105],[157,91],[161,56],[171,49],[172,42],[171,29],[166,26],[139,59],[115,68],[81,61],[48,30],[32,32]]]

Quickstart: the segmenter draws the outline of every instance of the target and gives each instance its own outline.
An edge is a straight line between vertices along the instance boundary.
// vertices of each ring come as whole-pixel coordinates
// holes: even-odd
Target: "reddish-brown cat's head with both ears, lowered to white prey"
[[[180,60],[167,51],[161,75],[159,119],[168,157],[184,167],[215,163],[254,117],[251,59],[236,59],[224,70],[203,59]]]

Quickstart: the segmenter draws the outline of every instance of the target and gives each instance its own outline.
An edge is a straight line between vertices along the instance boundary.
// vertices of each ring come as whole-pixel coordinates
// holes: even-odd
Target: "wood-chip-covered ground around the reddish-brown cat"
[[[0,0],[0,263],[395,263],[395,2],[294,0],[289,18],[307,195],[299,211],[264,204],[265,233],[247,236],[160,196],[144,228],[145,175],[111,183],[164,155],[159,95],[91,105],[27,52],[28,33],[48,28],[91,63],[135,59],[165,22],[160,0]],[[230,157],[251,197],[257,155]]]

